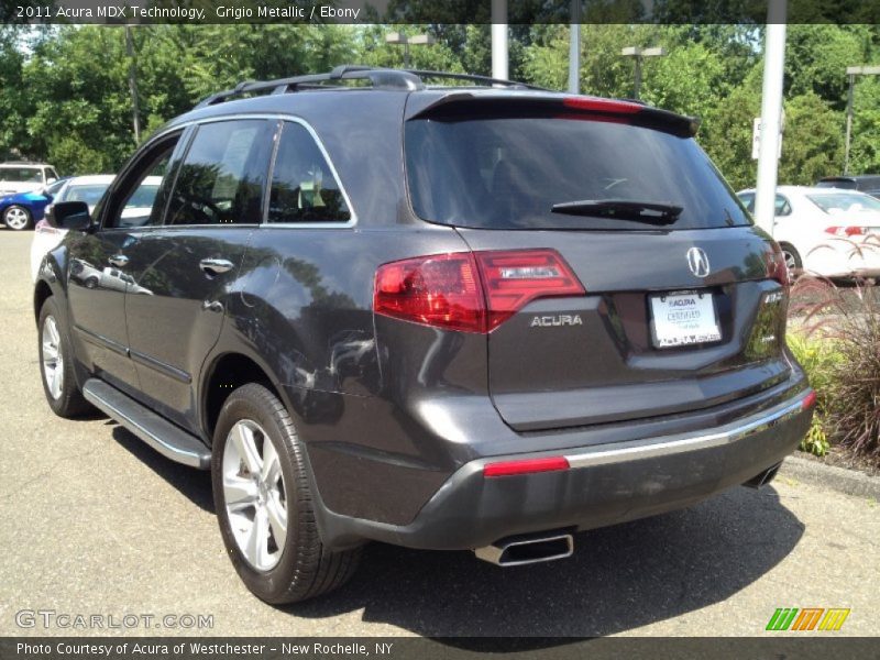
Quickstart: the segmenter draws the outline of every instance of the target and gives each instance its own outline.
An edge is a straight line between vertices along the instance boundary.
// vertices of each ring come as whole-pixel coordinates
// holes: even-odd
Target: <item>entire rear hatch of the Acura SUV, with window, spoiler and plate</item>
[[[475,251],[490,314],[493,295],[526,292],[487,334],[512,428],[680,414],[788,376],[784,266],[692,120],[547,95],[418,103],[405,133],[415,212]],[[566,276],[583,289],[554,290]]]

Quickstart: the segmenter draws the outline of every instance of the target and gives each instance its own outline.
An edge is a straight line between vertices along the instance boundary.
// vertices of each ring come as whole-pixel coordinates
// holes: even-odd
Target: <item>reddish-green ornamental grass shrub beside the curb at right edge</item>
[[[880,293],[864,283],[838,287],[803,277],[792,289],[791,311],[805,314],[805,342],[815,344],[816,355],[804,348],[804,360],[813,361],[805,367],[817,394],[825,389],[825,428],[855,453],[880,460]]]

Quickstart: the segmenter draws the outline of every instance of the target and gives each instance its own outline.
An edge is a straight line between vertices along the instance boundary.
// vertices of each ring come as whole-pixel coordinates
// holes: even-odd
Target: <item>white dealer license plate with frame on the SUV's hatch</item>
[[[722,340],[715,294],[688,289],[649,294],[651,343],[656,349],[681,349]]]

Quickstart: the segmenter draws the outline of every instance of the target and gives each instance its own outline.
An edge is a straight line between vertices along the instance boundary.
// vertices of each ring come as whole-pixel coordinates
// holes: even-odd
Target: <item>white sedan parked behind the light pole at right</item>
[[[755,210],[755,190],[737,197]],[[880,199],[840,188],[778,186],[773,238],[789,272],[880,277]]]

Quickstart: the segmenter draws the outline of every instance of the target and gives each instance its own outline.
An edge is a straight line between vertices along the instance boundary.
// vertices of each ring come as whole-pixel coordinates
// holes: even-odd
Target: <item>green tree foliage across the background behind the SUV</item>
[[[512,77],[551,89],[566,87],[569,28],[541,21],[563,15],[568,6],[561,0],[516,3],[524,20],[509,26]],[[486,18],[487,3],[450,3],[450,11],[473,12],[470,25],[414,24],[419,20],[414,7],[418,3],[392,0],[387,13],[367,26],[136,26],[131,31],[133,58],[121,26],[0,26],[0,158],[47,160],[65,174],[117,170],[136,147],[132,67],[142,140],[199,99],[242,80],[348,63],[403,66],[404,50],[385,41],[391,31],[435,37],[433,45],[410,47],[414,68],[491,73],[490,25],[476,22]],[[658,2],[657,8],[669,12],[681,9],[681,1]],[[634,63],[620,50],[664,47],[666,57],[644,63],[641,98],[700,117],[697,140],[732,185],[754,185],[751,129],[760,113],[762,26],[634,24],[641,11],[637,1],[587,6],[584,21],[604,22],[582,26],[582,91],[631,97]],[[845,70],[857,64],[880,64],[877,24],[789,26],[781,183],[809,184],[843,170]],[[850,169],[878,172],[880,80],[858,77],[854,101]]]

